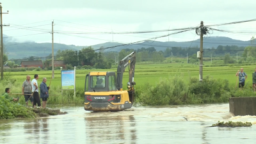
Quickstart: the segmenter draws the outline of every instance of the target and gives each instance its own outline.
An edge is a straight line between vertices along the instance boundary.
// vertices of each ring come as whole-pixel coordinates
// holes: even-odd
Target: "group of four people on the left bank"
[[[22,95],[25,97],[26,104],[28,106],[28,100],[31,101],[31,104],[34,108],[36,108],[36,104],[38,107],[41,108],[41,101],[40,98],[42,99],[43,103],[43,108],[46,108],[46,102],[47,99],[49,98],[49,89],[50,86],[47,86],[46,84],[46,77],[43,78],[42,83],[40,84],[40,98],[39,98],[39,90],[38,90],[38,80],[39,76],[38,74],[35,74],[34,79],[30,81],[30,76],[26,77],[26,80],[22,84]],[[19,97],[17,99],[11,98],[8,93],[10,93],[10,88],[5,89],[5,93],[3,96],[6,99],[10,99],[12,101],[18,101]]]

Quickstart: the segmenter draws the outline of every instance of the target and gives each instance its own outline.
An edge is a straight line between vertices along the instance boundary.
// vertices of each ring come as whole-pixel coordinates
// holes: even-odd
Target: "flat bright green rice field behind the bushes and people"
[[[213,78],[227,79],[230,84],[236,84],[237,77],[236,72],[240,68],[244,68],[244,72],[248,74],[247,83],[252,83],[252,73],[255,70],[255,66],[234,66],[234,67],[204,67],[203,77],[209,75]],[[84,88],[84,80],[88,72],[116,72],[116,67],[111,69],[95,69],[95,70],[76,70],[76,89]],[[9,75],[13,79],[16,79],[17,83],[22,85],[25,81],[26,76],[30,75],[31,80],[34,74],[38,74],[38,83],[42,81],[43,77],[47,78],[47,85],[51,81],[52,71],[26,71],[26,72],[4,72],[4,74]],[[164,64],[136,64],[134,81],[136,82],[136,87],[143,86],[145,83],[156,84],[159,79],[166,79],[167,77],[172,77],[175,74],[182,74],[184,79],[189,79],[189,77],[198,77],[199,79],[199,66],[191,65],[188,63],[164,63]],[[125,69],[123,78],[123,87],[126,87],[128,81],[128,68]],[[54,71],[54,79],[51,81],[51,86],[60,87],[61,86],[61,75],[60,70]]]

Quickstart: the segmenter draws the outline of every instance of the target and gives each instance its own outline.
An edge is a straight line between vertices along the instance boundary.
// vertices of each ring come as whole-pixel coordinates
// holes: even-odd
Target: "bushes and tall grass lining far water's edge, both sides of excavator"
[[[12,95],[19,93],[20,86],[17,83],[8,83],[11,88],[10,96],[20,97],[19,103],[25,105],[24,95]],[[142,106],[159,105],[180,105],[180,104],[212,104],[227,103],[230,97],[255,97],[252,84],[246,82],[244,88],[237,88],[237,85],[230,84],[227,79],[214,79],[211,76],[205,76],[204,81],[198,81],[198,77],[189,77],[185,79],[182,74],[175,74],[156,81],[156,83],[145,83],[144,85],[135,85],[136,99],[135,104]],[[0,88],[3,89],[4,86]],[[124,90],[125,90],[124,86]],[[84,102],[84,88],[77,88],[76,98],[74,91],[63,91],[61,95],[60,86],[51,86],[49,91],[49,105],[67,105],[75,106]],[[40,99],[42,102],[42,99]],[[31,102],[29,101],[29,106]]]

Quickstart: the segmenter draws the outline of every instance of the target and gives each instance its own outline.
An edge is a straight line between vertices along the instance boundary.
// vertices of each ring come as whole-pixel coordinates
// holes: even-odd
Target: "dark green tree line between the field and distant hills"
[[[111,68],[112,65],[116,65],[125,56],[130,54],[132,51],[136,51],[136,61],[152,61],[152,62],[162,62],[168,57],[186,57],[189,56],[189,63],[195,63],[198,61],[196,58],[196,52],[200,51],[199,47],[167,47],[164,51],[157,51],[155,47],[141,47],[140,49],[122,49],[120,52],[108,51],[104,52],[104,47],[100,47],[99,51],[95,51],[93,47],[86,47],[79,51],[74,51],[72,49],[67,49],[63,51],[56,52],[54,60],[63,60],[65,64],[74,66],[88,66],[94,68]],[[234,63],[235,60],[231,56],[239,54],[244,57],[244,60],[255,60],[256,58],[256,47],[254,45],[248,47],[239,47],[237,45],[219,45],[216,49],[212,47],[211,49],[204,49],[204,56],[224,56],[224,63]],[[50,65],[51,54],[45,60],[45,67]],[[6,54],[4,55],[4,61],[8,58]],[[26,60],[41,60],[41,58],[36,56],[30,56]],[[18,64],[20,65],[21,60],[7,61],[10,65]]]

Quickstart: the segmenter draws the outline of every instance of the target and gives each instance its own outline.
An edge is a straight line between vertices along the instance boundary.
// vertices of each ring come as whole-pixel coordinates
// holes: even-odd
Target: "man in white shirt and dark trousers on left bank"
[[[37,84],[37,79],[39,78],[38,74],[35,74],[34,79],[32,80],[32,92],[33,92],[33,97],[34,97],[34,108],[36,108],[36,103],[37,106],[41,108],[41,102],[39,98],[39,93],[38,93],[38,84]]]

